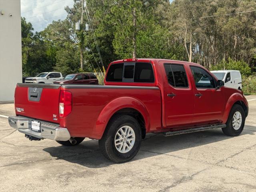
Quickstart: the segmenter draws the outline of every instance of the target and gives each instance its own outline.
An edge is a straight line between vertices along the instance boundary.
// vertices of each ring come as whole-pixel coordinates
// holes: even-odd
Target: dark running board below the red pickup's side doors
[[[204,126],[204,127],[199,127],[199,128],[190,128],[190,129],[184,129],[180,131],[169,131],[169,132],[164,132],[164,136],[172,136],[172,135],[180,135],[184,133],[192,133],[192,132],[198,132],[198,131],[205,131],[205,130],[210,130],[210,129],[218,129],[218,128],[225,128],[226,124],[219,124],[219,125],[212,125],[212,126]]]

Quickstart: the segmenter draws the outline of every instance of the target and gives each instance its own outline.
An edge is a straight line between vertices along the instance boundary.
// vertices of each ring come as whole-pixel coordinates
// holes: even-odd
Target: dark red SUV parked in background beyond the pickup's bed
[[[54,81],[55,84],[98,84],[93,73],[69,74],[63,80]]]

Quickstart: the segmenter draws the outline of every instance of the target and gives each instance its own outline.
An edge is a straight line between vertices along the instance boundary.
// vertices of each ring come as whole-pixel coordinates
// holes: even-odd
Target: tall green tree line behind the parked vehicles
[[[73,8],[65,8],[66,19],[40,32],[22,18],[24,76],[104,72],[111,61],[132,57],[184,60],[208,69],[239,62],[249,70],[246,76],[255,71],[254,0],[87,0],[82,30],[72,33],[80,7],[74,0]]]

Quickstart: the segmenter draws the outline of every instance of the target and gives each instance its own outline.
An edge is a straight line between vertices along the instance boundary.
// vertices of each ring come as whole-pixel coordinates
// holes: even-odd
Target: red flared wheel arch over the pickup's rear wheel
[[[98,137],[97,139],[102,138],[109,121],[116,114],[128,114],[136,118],[142,128],[142,138],[145,138],[146,132],[150,127],[150,118],[146,106],[136,98],[121,97],[109,102],[100,112],[93,130],[94,135]]]

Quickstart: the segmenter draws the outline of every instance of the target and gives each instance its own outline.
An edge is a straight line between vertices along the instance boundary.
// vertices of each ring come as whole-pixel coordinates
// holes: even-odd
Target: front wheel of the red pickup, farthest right
[[[222,128],[224,134],[228,136],[238,136],[244,129],[245,113],[242,106],[234,104],[230,110],[226,128]]]

